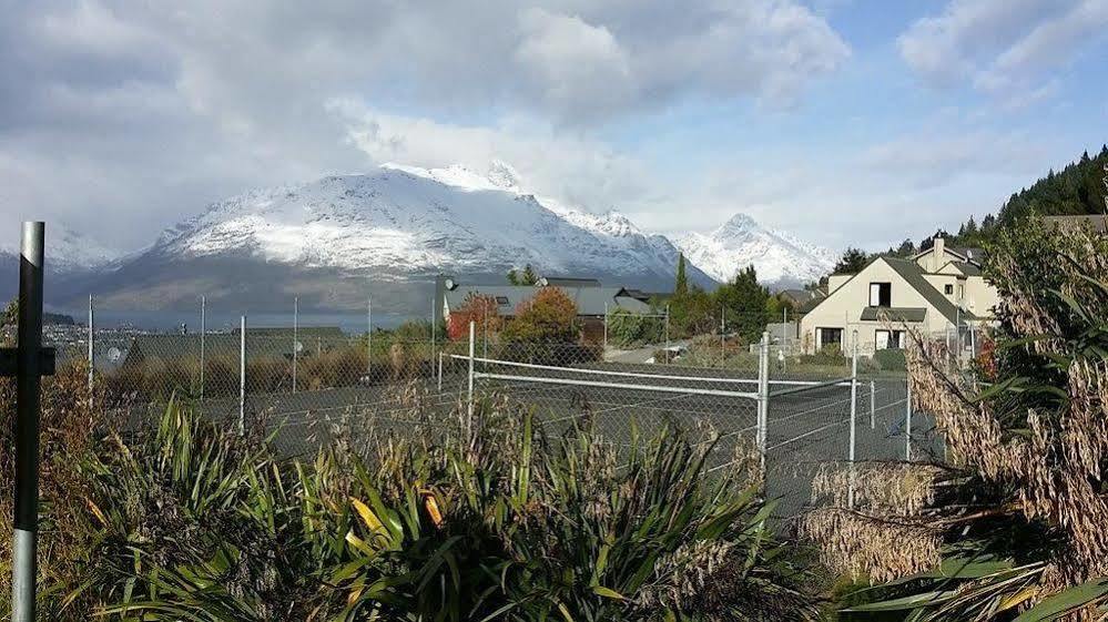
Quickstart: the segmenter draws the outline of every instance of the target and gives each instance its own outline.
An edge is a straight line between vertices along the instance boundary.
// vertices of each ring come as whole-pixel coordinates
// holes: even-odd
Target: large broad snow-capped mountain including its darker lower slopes
[[[389,282],[423,283],[440,272],[499,279],[525,264],[663,289],[672,286],[678,253],[622,214],[594,215],[525,192],[502,162],[487,174],[387,164],[217,202],[121,262],[101,289],[148,303],[152,290],[161,306],[192,304],[199,294],[254,303],[311,290],[319,306],[337,308],[364,305],[367,277],[377,304]],[[695,267],[689,276],[713,285]],[[398,310],[408,306],[394,302]]]

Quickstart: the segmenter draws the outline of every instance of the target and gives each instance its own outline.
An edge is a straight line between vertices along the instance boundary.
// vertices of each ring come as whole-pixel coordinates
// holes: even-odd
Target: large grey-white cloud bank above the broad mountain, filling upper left
[[[386,156],[504,157],[604,208],[651,177],[606,124],[793,101],[848,54],[797,0],[6,3],[0,210],[135,247],[244,187]]]

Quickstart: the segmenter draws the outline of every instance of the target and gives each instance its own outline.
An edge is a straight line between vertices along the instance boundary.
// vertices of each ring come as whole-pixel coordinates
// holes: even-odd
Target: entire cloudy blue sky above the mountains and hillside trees
[[[1106,0],[0,9],[0,211],[124,249],[254,186],[491,159],[649,231],[876,248],[1108,141]]]

